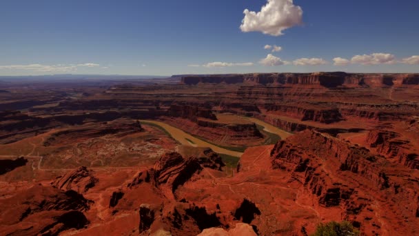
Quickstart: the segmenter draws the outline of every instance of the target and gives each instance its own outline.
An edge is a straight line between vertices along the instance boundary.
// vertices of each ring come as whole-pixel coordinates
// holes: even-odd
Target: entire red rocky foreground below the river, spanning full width
[[[330,135],[306,130],[248,148],[233,177],[223,166],[212,152],[167,153],[99,199],[107,178],[79,168],[3,196],[0,232],[309,235],[319,222],[347,220],[365,235],[419,233],[416,170]]]

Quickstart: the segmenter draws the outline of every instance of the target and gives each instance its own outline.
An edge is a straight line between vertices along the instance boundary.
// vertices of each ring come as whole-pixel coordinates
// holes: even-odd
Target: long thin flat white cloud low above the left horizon
[[[57,64],[57,65],[43,65],[43,64],[28,64],[28,65],[8,65],[0,66],[0,70],[32,70],[33,72],[74,72],[78,67],[96,67],[100,66],[96,63],[83,64]]]

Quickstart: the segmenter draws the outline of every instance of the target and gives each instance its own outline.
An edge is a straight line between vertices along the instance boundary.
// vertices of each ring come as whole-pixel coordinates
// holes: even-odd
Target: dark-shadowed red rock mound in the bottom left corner
[[[83,211],[90,201],[73,190],[36,185],[0,199],[0,204],[1,235],[58,235],[89,223]]]

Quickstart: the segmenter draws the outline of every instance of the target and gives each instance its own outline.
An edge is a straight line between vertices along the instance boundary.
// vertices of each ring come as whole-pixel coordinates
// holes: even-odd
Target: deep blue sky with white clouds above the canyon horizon
[[[243,30],[245,9],[265,17]],[[0,75],[419,72],[418,9],[416,0],[2,0]]]

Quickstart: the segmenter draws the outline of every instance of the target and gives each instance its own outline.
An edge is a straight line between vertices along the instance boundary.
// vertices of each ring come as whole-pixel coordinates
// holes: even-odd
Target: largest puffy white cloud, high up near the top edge
[[[265,35],[283,35],[283,30],[303,23],[303,10],[293,0],[267,0],[260,12],[244,10],[240,29],[243,32],[260,31]]]

